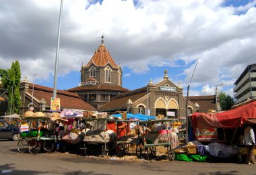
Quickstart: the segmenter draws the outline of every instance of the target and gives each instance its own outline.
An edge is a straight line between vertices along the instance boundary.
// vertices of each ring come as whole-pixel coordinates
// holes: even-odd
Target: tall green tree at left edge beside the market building
[[[11,62],[11,68],[4,70],[0,69],[1,81],[3,89],[8,93],[8,112],[18,113],[19,107],[22,104],[20,100],[20,63],[18,60]]]

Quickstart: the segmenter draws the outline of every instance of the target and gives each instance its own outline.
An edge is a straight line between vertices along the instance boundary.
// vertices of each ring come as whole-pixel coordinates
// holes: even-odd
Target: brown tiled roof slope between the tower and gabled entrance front
[[[133,93],[131,95],[126,95],[123,97],[117,97],[115,100],[106,103],[98,109],[98,111],[110,111],[110,110],[119,110],[119,109],[126,109],[126,103],[130,99],[131,101],[136,101],[137,99],[143,97],[147,94],[147,91],[143,91],[140,93]]]

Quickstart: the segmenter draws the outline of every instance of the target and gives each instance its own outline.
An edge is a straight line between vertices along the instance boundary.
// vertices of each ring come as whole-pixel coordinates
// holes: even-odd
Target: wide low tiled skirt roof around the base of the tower
[[[76,91],[121,91],[126,92],[129,91],[128,89],[125,89],[121,86],[116,85],[108,85],[108,84],[96,84],[96,85],[90,85],[90,86],[77,86],[72,89],[68,89],[69,92],[76,92]]]

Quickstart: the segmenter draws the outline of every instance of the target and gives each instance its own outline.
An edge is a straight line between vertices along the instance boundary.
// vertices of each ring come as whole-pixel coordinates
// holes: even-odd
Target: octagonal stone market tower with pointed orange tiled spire
[[[67,91],[76,93],[95,109],[113,101],[128,89],[122,87],[122,69],[117,65],[104,45],[104,37],[94,55],[81,68],[81,82],[79,86]]]

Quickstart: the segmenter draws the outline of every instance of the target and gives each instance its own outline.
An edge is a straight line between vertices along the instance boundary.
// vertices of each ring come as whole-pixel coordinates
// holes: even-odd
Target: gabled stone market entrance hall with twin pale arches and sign
[[[185,119],[186,101],[183,97],[183,88],[171,82],[164,70],[162,81],[153,84],[152,80],[147,86],[133,91],[122,93],[115,100],[103,105],[98,111],[129,111],[146,115]],[[197,107],[188,101],[188,111],[193,113]]]

